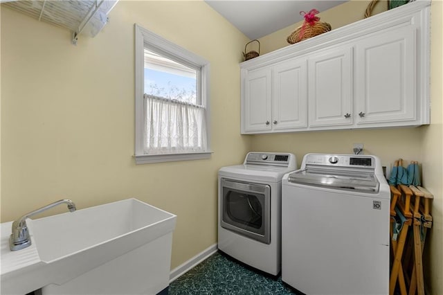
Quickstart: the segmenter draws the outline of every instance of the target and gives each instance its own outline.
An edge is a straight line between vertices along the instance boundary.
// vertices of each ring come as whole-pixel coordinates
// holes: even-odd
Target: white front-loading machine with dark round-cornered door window
[[[290,153],[249,152],[243,165],[219,170],[221,251],[268,274],[280,273],[282,177],[296,165]]]

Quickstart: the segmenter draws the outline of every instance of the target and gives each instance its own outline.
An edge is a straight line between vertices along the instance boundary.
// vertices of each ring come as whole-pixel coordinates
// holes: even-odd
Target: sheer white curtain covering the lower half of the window
[[[145,94],[145,154],[205,152],[206,109]]]

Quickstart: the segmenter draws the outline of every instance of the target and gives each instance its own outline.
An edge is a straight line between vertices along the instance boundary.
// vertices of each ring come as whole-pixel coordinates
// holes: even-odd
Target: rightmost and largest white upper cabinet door
[[[357,124],[417,120],[415,48],[412,26],[356,43]]]

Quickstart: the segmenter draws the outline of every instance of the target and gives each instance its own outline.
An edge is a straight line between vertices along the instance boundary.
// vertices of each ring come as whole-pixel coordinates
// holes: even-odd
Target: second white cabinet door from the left
[[[306,60],[291,60],[273,67],[274,130],[307,127],[306,74]]]

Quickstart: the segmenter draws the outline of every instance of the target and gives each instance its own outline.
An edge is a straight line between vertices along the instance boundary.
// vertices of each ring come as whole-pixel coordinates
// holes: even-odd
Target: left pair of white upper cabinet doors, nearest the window
[[[242,133],[307,127],[305,60],[244,70],[242,76]]]

